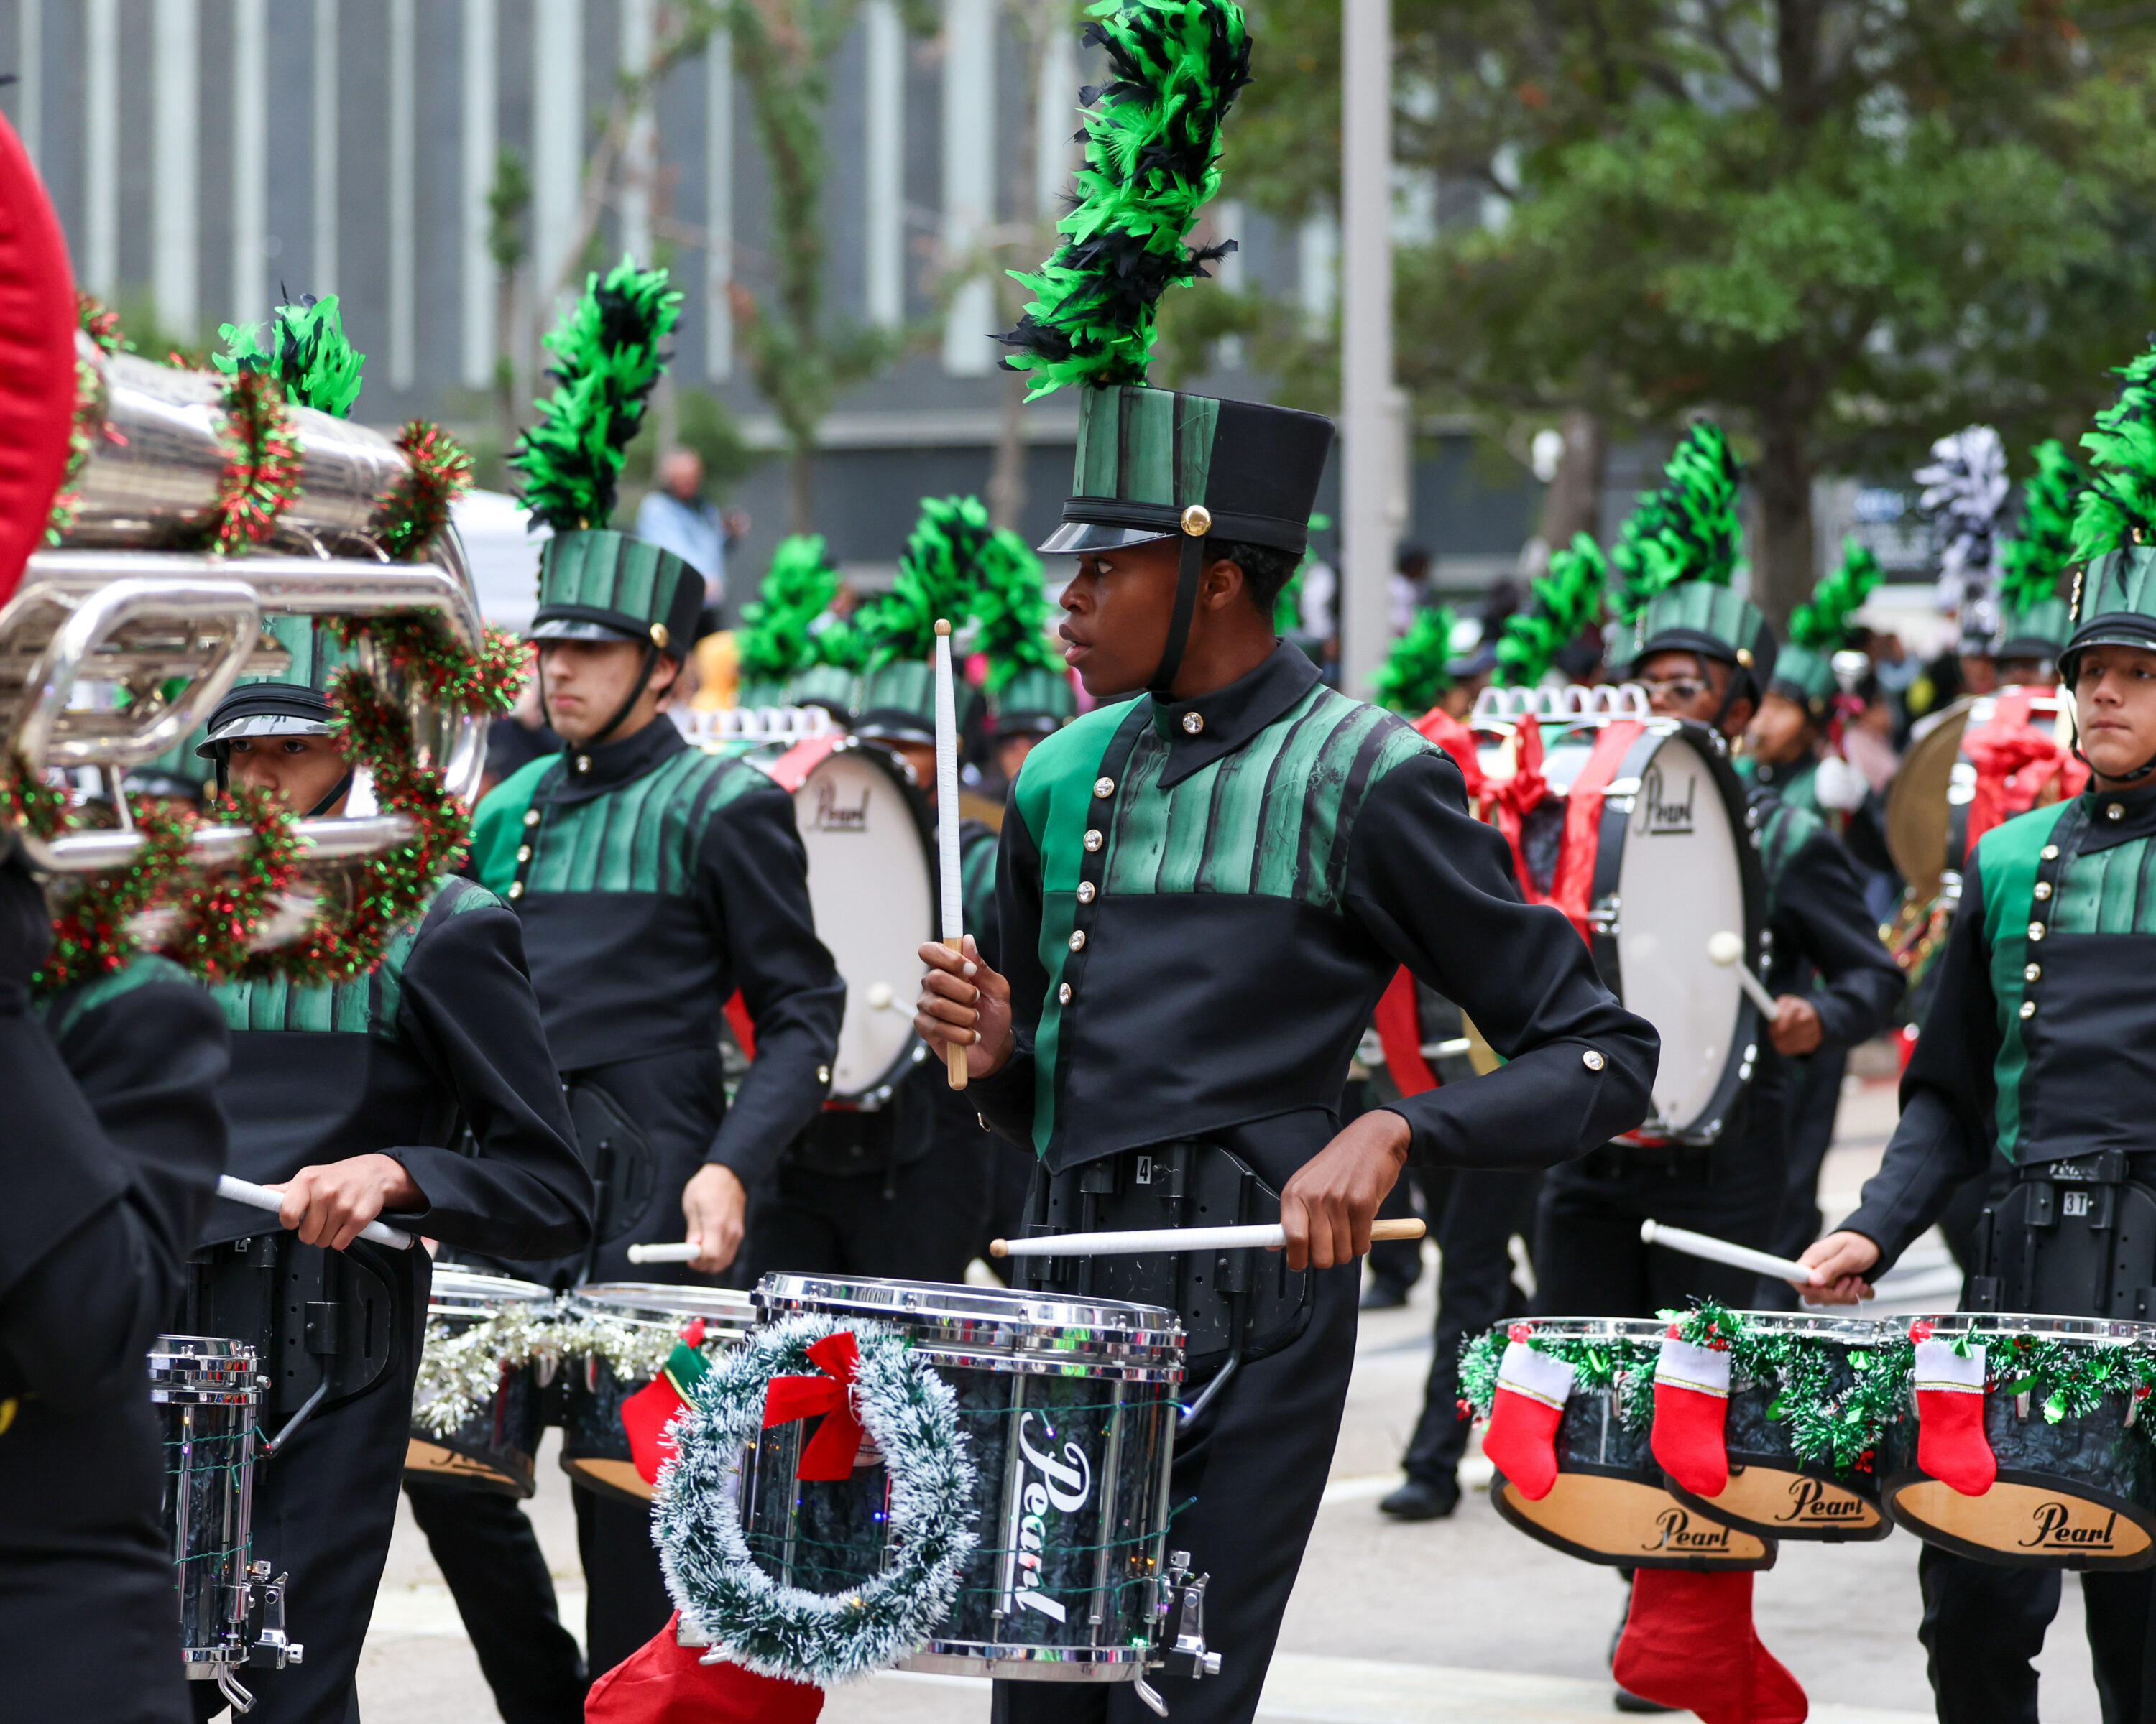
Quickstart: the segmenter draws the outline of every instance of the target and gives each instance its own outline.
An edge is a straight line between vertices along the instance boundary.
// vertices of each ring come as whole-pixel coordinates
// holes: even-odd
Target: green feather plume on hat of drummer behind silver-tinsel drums
[[[576,532],[612,522],[621,461],[666,369],[660,340],[679,315],[681,295],[664,269],[621,259],[604,280],[584,278],[584,293],[545,338],[554,394],[509,455],[524,474],[533,526]]]

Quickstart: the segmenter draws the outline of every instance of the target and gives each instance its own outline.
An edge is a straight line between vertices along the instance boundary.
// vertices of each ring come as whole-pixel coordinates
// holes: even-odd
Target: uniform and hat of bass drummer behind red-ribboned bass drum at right
[[[1757,700],[1774,675],[1777,646],[1766,618],[1710,580],[1684,580],[1641,610],[1632,662],[1660,651],[1729,666],[1725,709],[1746,696]],[[1818,815],[1764,787],[1751,791],[1751,830],[1774,937],[1766,989],[1809,1000],[1824,1045],[1852,1047],[1878,1034],[1902,998],[1902,972],[1880,944],[1841,840]],[[1751,1086],[1716,1142],[1611,1142],[1554,1168],[1542,1181],[1535,1222],[1535,1310],[1654,1317],[1690,1297],[1753,1306],[1753,1271],[1645,1246],[1639,1224],[1660,1220],[1755,1250],[1772,1246],[1787,1177],[1789,1086],[1789,1060],[1774,1052],[1761,1024]]]

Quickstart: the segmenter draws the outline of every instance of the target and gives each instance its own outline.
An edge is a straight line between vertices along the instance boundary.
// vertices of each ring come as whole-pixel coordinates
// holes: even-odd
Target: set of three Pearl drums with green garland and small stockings
[[[1850,1543],[1904,1526],[1979,1562],[2124,1571],[2156,1565],[2156,1323],[1958,1312],[1915,1319],[1731,1312],[1787,1368],[1731,1368],[1729,1483],[1686,1491],[1651,1452],[1654,1371],[1669,1323],[1542,1317],[1509,1336],[1580,1371],[1557,1429],[1557,1483],[1529,1498],[1498,1474],[1492,1502],[1529,1537],[1583,1562],[1768,1569],[1781,1541]],[[1919,1463],[1910,1332],[1986,1347],[1984,1440],[1996,1478],[1966,1493]],[[1796,1364],[1800,1360],[1800,1364]],[[2061,1390],[2059,1373],[2089,1388]],[[1858,1379],[1871,1401],[1856,1409]],[[1800,1452],[1796,1399],[1861,1429],[1848,1448]],[[1869,1420],[1858,1424],[1858,1420]]]

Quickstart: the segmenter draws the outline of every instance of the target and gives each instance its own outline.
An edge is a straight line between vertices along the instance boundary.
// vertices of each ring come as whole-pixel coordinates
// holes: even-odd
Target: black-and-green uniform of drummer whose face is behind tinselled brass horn
[[[326,735],[330,707],[300,683],[250,683],[211,715],[205,750],[237,735]],[[222,778],[222,759],[220,759]],[[332,791],[332,800],[341,795]],[[306,1166],[390,1155],[425,1194],[386,1215],[466,1252],[578,1250],[591,1179],[576,1157],[517,918],[468,879],[444,879],[379,965],[334,987],[229,983],[231,1170],[272,1185]],[[252,1718],[345,1720],[388,1558],[427,1317],[423,1248],[300,1243],[259,1209],[218,1202],[201,1233],[177,1327],[261,1349],[265,1459],[254,1541],[291,1575],[287,1629],[306,1662],[250,1677]],[[201,1683],[198,1715],[224,1698]]]

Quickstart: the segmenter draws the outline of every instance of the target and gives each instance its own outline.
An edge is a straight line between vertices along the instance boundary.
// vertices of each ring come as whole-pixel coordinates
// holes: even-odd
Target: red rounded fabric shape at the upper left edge
[[[75,282],[52,200],[0,119],[0,603],[45,537],[75,416]]]

